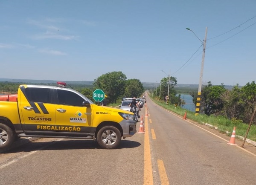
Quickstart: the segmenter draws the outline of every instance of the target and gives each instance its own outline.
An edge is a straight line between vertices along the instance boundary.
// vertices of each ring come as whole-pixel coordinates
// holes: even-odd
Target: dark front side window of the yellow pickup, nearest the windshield
[[[79,107],[83,106],[84,99],[81,96],[71,91],[57,90],[57,96],[58,96],[58,104],[79,106]]]

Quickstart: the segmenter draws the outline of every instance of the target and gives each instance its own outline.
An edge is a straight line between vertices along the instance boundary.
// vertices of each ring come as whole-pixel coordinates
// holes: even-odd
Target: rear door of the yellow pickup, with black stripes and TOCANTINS
[[[20,87],[19,113],[25,133],[42,135],[54,131],[55,104],[51,103],[52,90],[42,87]]]

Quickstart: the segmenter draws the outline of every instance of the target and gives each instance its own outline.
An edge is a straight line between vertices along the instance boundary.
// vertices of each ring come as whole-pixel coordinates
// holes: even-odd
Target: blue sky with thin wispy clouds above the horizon
[[[203,84],[256,78],[256,0],[0,0],[0,14],[0,78],[198,84],[206,27]]]

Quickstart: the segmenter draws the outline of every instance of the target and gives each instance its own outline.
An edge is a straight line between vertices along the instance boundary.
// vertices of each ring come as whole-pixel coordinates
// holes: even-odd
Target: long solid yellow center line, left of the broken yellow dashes
[[[144,135],[144,185],[153,185],[152,162],[148,134],[148,117],[144,121],[145,135]]]

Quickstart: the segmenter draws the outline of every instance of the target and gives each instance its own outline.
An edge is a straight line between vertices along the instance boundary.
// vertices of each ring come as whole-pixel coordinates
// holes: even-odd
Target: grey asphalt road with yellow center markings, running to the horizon
[[[229,137],[149,98],[140,115],[145,133],[122,140],[115,150],[45,138],[0,153],[0,185],[256,184],[256,147],[227,145]]]

